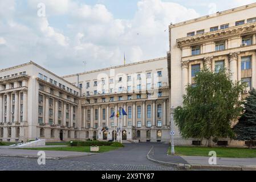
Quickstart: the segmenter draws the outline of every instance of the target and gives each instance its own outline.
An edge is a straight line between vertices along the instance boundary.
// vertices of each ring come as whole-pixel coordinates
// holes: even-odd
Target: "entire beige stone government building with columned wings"
[[[169,51],[157,59],[63,77],[32,61],[0,70],[0,140],[170,142],[171,108],[204,65],[247,82],[243,97],[256,88],[255,12],[253,3],[170,24]],[[176,126],[174,133],[176,145],[206,142],[183,139]]]

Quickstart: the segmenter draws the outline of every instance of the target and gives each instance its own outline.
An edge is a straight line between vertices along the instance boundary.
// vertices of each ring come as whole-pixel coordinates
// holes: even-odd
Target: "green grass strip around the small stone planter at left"
[[[108,152],[111,150],[116,150],[120,147],[112,147],[112,146],[99,146],[99,152]],[[90,146],[86,147],[45,147],[45,148],[19,148],[26,150],[42,150],[42,151],[72,151],[72,152],[91,152]]]

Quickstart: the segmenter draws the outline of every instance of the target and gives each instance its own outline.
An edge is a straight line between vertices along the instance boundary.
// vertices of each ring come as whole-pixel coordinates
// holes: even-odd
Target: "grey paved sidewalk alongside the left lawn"
[[[94,155],[94,153],[88,152],[68,152],[68,151],[45,151],[46,159],[62,159],[72,158],[78,156]],[[15,157],[27,157],[38,158],[38,150],[19,150],[19,149],[0,149],[0,156],[15,156]]]

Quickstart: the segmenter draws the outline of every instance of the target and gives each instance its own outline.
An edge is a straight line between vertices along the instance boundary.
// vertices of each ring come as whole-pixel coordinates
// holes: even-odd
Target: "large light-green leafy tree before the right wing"
[[[245,84],[233,83],[225,68],[211,72],[203,68],[187,85],[183,106],[174,110],[174,120],[183,138],[233,138],[232,119],[242,112],[240,99]]]

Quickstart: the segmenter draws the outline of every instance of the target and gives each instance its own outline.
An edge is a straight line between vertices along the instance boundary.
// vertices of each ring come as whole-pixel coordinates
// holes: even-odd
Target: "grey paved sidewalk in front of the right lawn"
[[[198,164],[201,166],[209,165],[209,157],[205,156],[171,156],[167,155],[168,145],[155,145],[148,156],[156,162],[173,163],[173,164]],[[162,163],[162,164],[163,164]],[[256,158],[217,158],[217,166],[239,166],[239,167],[256,167]]]

